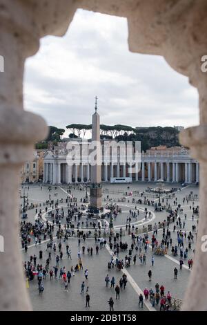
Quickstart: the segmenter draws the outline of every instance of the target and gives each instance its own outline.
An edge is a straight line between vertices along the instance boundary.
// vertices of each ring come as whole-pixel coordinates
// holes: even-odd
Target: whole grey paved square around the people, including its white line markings
[[[128,188],[128,186],[130,188]],[[122,242],[128,243],[128,250],[132,243],[132,238],[130,234],[128,234],[128,230],[126,230],[126,223],[128,223],[127,219],[130,217],[129,210],[135,211],[136,217],[133,218],[131,216],[131,225],[134,223],[135,228],[142,229],[143,226],[152,224],[155,225],[159,222],[163,222],[167,220],[168,212],[166,210],[162,212],[155,211],[155,207],[152,205],[144,204],[144,196],[149,201],[158,202],[159,198],[156,197],[154,194],[148,194],[146,191],[147,187],[156,187],[154,183],[132,183],[130,185],[110,185],[107,183],[103,183],[103,206],[108,204],[108,199],[110,198],[110,203],[115,203],[121,207],[121,213],[119,213],[116,219],[113,220],[115,232],[119,232],[119,228],[123,228],[124,235],[122,236]],[[179,188],[179,184],[166,184],[165,188],[172,188],[177,187]],[[64,212],[63,218],[60,219],[61,227],[64,229],[64,224],[66,222],[66,217],[68,216],[68,204],[66,203],[66,198],[68,197],[67,193],[68,187],[52,187],[52,190],[48,190],[47,186],[39,186],[39,185],[29,185],[29,188],[25,187],[25,193],[28,194],[28,203],[29,205],[33,203],[34,205],[41,204],[41,207],[37,207],[37,212],[42,210],[42,219],[41,222],[44,223],[44,228],[46,228],[46,221],[48,221],[48,225],[52,225],[52,220],[55,219],[51,215],[48,216],[48,212],[52,210],[52,205],[45,205],[46,201],[57,201],[59,200],[59,214]],[[199,205],[198,201],[186,201],[183,203],[183,199],[193,191],[193,194],[198,194],[198,187],[194,185],[188,185],[186,187],[181,187],[178,192],[175,192],[175,196],[172,197],[170,194],[170,198],[166,198],[163,194],[163,198],[161,197],[161,204],[167,205],[170,204],[172,210],[175,210],[176,207],[180,204],[181,209],[183,211],[178,212],[178,216],[181,218],[181,224],[183,227],[183,223],[185,222],[185,228],[182,228],[182,231],[186,230],[186,237],[188,236],[188,232],[192,232],[192,225],[196,225],[197,227],[197,216],[193,215],[193,203],[194,207]],[[23,193],[23,189],[21,189]],[[131,192],[131,193],[130,193]],[[135,192],[139,192],[139,194],[135,194]],[[140,192],[144,192],[143,196],[140,196]],[[127,194],[126,194],[127,193]],[[132,195],[129,195],[132,194]],[[70,188],[70,195],[77,198],[77,208],[83,204],[83,198],[86,195],[85,190],[79,186],[72,186]],[[69,195],[69,196],[70,196]],[[175,203],[175,198],[177,198],[177,203]],[[61,203],[62,199],[62,203]],[[141,203],[137,203],[138,200],[141,200]],[[164,202],[162,202],[164,200]],[[82,201],[82,202],[81,202]],[[140,201],[139,201],[140,202]],[[22,203],[22,201],[21,201]],[[71,203],[73,204],[73,203]],[[48,207],[48,212],[45,213],[46,207]],[[63,210],[61,210],[63,207]],[[135,210],[135,207],[137,208]],[[191,207],[191,208],[190,208]],[[150,216],[148,214],[147,219],[145,218],[145,208],[147,208],[148,212],[151,212]],[[70,207],[69,207],[70,209]],[[139,210],[139,214],[138,211]],[[55,212],[55,204],[53,204],[53,210]],[[25,221],[26,223],[31,222],[34,224],[35,219],[37,219],[36,208],[30,209],[27,211],[28,219],[22,219],[21,221]],[[185,217],[186,214],[186,217]],[[75,220],[76,219],[76,220]],[[90,228],[90,222],[95,222],[95,228],[97,228],[98,221],[88,219],[88,228],[86,229],[86,216],[82,216],[80,218],[80,225],[79,230],[83,230],[83,232],[88,232]],[[71,223],[75,225],[75,232],[77,232],[77,223],[78,217],[75,218],[75,215],[72,216],[70,219]],[[110,217],[106,216],[106,221],[110,222]],[[83,222],[83,228],[81,228]],[[106,225],[105,220],[101,220],[101,236],[103,234],[104,226]],[[43,240],[43,236],[41,235],[41,244],[37,243],[35,245],[34,236],[30,235],[31,241],[28,244],[28,250],[25,252],[22,249],[23,253],[23,262],[30,261],[30,256],[36,254],[37,256],[37,264],[42,264],[43,268],[46,266],[46,259],[48,258],[48,252],[51,252],[51,261],[49,265],[50,269],[54,270],[53,267],[56,265],[56,257],[59,254],[58,245],[61,241],[61,250],[63,252],[63,257],[59,261],[59,269],[57,273],[57,279],[53,277],[52,281],[50,281],[50,275],[46,275],[46,279],[43,280],[43,294],[39,295],[38,290],[38,281],[37,275],[34,276],[32,281],[29,281],[29,288],[28,293],[30,295],[30,299],[32,301],[32,307],[34,310],[109,310],[108,299],[112,297],[115,301],[114,308],[115,310],[153,310],[152,304],[149,301],[144,300],[144,308],[138,306],[139,302],[139,293],[144,291],[145,288],[152,288],[155,292],[155,284],[158,282],[159,285],[164,285],[165,287],[165,294],[170,291],[172,297],[177,299],[184,298],[184,292],[186,290],[186,286],[188,284],[188,279],[190,275],[190,270],[188,270],[188,259],[192,258],[194,255],[194,248],[195,248],[195,240],[196,234],[193,232],[193,242],[192,250],[188,251],[188,257],[184,260],[184,266],[182,270],[179,270],[179,248],[178,248],[178,255],[174,256],[171,252],[171,246],[169,245],[168,254],[164,256],[159,256],[157,254],[153,254],[152,249],[150,246],[146,250],[146,265],[140,263],[139,261],[139,250],[137,250],[137,259],[134,265],[133,257],[136,254],[135,248],[132,250],[132,260],[130,262],[130,267],[124,268],[124,270],[117,270],[116,267],[112,268],[112,270],[108,270],[108,262],[111,259],[112,250],[110,250],[109,246],[103,247],[99,249],[99,254],[96,254],[96,246],[95,238],[93,238],[93,230],[92,238],[86,239],[86,242],[83,242],[83,239],[80,239],[80,243],[77,238],[71,238],[64,242],[63,238],[57,239],[57,230],[58,230],[58,223],[54,223],[54,232],[52,236],[55,237],[53,239],[53,243],[57,244],[56,252],[53,249],[47,250],[47,244],[49,243],[49,237],[46,236],[46,239]],[[173,227],[176,225],[176,230],[173,232]],[[49,227],[49,226],[48,226]],[[167,227],[166,227],[167,229]],[[177,230],[179,230],[179,226],[177,226],[177,219],[175,219],[175,223],[170,223],[169,225],[170,236],[172,238],[172,245],[177,245]],[[163,230],[160,229],[157,232],[157,240],[161,241],[162,239]],[[149,239],[151,241],[152,232],[148,232]],[[144,237],[144,234],[139,234],[138,236]],[[106,241],[108,243],[108,237],[106,237]],[[112,240],[113,243],[113,240]],[[66,254],[66,245],[69,245],[71,250],[72,260],[68,259]],[[82,254],[82,246],[86,247],[85,254]],[[92,257],[87,254],[87,247],[90,246],[93,248],[93,255]],[[184,239],[184,250],[188,248],[188,238]],[[142,254],[144,252],[144,245],[141,246]],[[43,252],[43,258],[39,259],[39,250]],[[78,263],[78,251],[81,252],[81,260],[83,263],[83,270],[79,270],[75,272],[75,276],[72,276],[70,280],[70,284],[68,285],[68,292],[64,290],[63,279],[59,279],[59,270],[60,268],[65,267],[66,272],[71,270],[73,266],[75,268],[76,264]],[[126,250],[121,252],[119,250],[119,259],[125,260],[126,255],[128,255],[129,251]],[[152,255],[155,258],[154,266],[151,264]],[[177,267],[178,275],[177,279],[174,279],[174,269]],[[84,277],[84,270],[88,269],[88,280]],[[152,280],[149,281],[148,278],[148,271],[152,270]],[[120,292],[120,299],[116,299],[115,288],[106,288],[105,278],[108,274],[110,279],[112,276],[115,277],[115,286],[119,285],[119,279],[122,275],[126,272],[128,282],[126,285],[126,289],[121,290]],[[85,281],[85,293],[81,294],[81,283]],[[88,286],[88,293],[90,295],[90,307],[86,306],[86,288]],[[159,306],[155,305],[155,309],[159,310]]]

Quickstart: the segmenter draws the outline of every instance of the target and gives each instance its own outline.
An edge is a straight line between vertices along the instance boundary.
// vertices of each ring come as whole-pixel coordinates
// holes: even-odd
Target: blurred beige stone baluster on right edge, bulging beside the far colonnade
[[[204,89],[206,96],[206,89]],[[201,101],[206,109],[207,100]],[[201,107],[200,107],[201,109]],[[207,299],[207,258],[206,258],[206,235],[207,235],[207,114],[206,121],[201,119],[198,127],[185,129],[180,134],[180,141],[186,147],[190,147],[191,156],[199,160],[199,225],[197,231],[197,243],[193,270],[190,272],[190,280],[186,290],[182,310],[206,310]],[[198,167],[197,167],[198,173]],[[192,295],[193,293],[193,295]]]

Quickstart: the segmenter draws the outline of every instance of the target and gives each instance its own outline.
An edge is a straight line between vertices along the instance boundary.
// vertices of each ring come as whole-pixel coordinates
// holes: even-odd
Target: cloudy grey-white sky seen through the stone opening
[[[162,57],[130,53],[127,38],[126,19],[78,10],[64,37],[42,39],[27,60],[26,109],[57,127],[90,124],[97,95],[101,124],[198,124],[188,79]]]

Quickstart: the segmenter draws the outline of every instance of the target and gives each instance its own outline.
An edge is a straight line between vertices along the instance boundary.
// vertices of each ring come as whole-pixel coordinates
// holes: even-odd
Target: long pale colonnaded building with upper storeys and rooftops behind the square
[[[65,144],[66,146],[66,144]],[[68,165],[67,150],[63,144],[44,156],[43,182],[50,184],[71,184],[90,182],[91,165],[87,156],[80,163]],[[135,182],[199,183],[199,163],[190,157],[190,151],[184,147],[152,147],[142,152],[138,160],[130,164],[116,158],[105,157],[101,165],[101,181],[109,182],[111,177],[131,177]]]

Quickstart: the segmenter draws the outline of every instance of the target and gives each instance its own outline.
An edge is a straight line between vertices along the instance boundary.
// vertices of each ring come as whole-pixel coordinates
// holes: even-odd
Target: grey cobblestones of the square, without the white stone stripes
[[[103,189],[108,188],[110,194],[103,194],[103,203],[104,198],[106,199],[107,195],[112,198],[112,200],[118,200],[129,191],[138,190],[139,192],[146,189],[148,186],[155,187],[156,185],[151,183],[134,183],[130,185],[130,189],[127,188],[127,185],[109,185],[103,184]],[[172,184],[166,185],[166,188],[171,188]],[[173,187],[180,187],[180,185],[173,185]],[[193,191],[193,194],[198,194],[198,187],[193,185],[181,188],[181,191],[177,192],[175,196],[177,197],[177,204],[180,203],[184,209],[181,216],[181,221],[184,221],[184,214],[187,214],[186,226],[185,229],[187,231],[192,230],[192,225],[197,225],[197,218],[195,217],[194,221],[192,221],[192,210],[190,210],[190,205],[193,205],[192,201],[188,203],[182,203],[183,198]],[[41,208],[44,210],[43,202],[49,199],[49,194],[51,199],[55,198],[66,198],[66,187],[57,187],[57,189],[52,189],[52,192],[48,192],[48,187],[41,188],[38,185],[30,185],[29,189],[25,189],[26,194],[28,194],[29,203],[41,203]],[[121,193],[118,193],[121,192]],[[23,193],[23,190],[22,190]],[[54,194],[57,193],[57,196]],[[77,201],[80,201],[80,198],[85,196],[84,191],[80,191],[77,187],[72,187],[72,194],[77,197]],[[136,201],[136,196],[135,201]],[[152,225],[159,221],[164,221],[168,213],[166,211],[163,212],[155,212],[153,206],[146,206],[144,204],[138,205],[136,203],[132,203],[132,196],[126,196],[126,202],[119,202],[122,209],[122,213],[117,216],[115,220],[115,225],[124,225],[126,223],[126,218],[129,216],[129,210],[135,210],[135,205],[143,210],[145,207],[148,210],[151,210],[155,213],[155,219],[152,221],[148,221],[148,223],[152,223]],[[152,200],[158,200],[158,198],[150,198]],[[168,199],[168,203],[173,205],[173,201],[175,198]],[[166,198],[164,198],[164,203],[166,203]],[[195,201],[195,205],[198,205],[198,201]],[[39,211],[39,207],[37,208]],[[67,208],[66,208],[67,209]],[[144,219],[144,212],[141,212],[137,221],[141,221]],[[34,222],[35,209],[28,210],[28,219],[26,221]],[[62,221],[63,222],[63,221]],[[132,220],[133,222],[133,220]],[[144,223],[145,221],[139,222]],[[143,225],[139,226],[142,227]],[[172,232],[173,224],[170,224],[171,236],[172,236],[172,245],[177,243],[177,232]],[[149,233],[151,234],[151,233]],[[159,240],[162,239],[162,230],[158,231],[157,238]],[[195,236],[196,238],[196,236]],[[59,241],[55,239],[57,243]],[[131,238],[126,232],[126,236],[123,236],[122,241],[127,241],[128,244],[131,244]],[[77,252],[79,250],[77,239],[68,239],[68,245],[70,245],[70,249],[72,250],[72,261],[68,260],[66,257],[66,243],[63,243],[63,260],[60,261],[59,267],[66,266],[66,270],[70,270],[71,266],[75,266],[77,263]],[[81,246],[83,243],[81,242]],[[172,293],[172,297],[176,297],[179,299],[183,299],[184,292],[186,290],[186,286],[188,284],[188,279],[190,275],[190,270],[188,267],[184,267],[182,270],[179,270],[179,256],[172,257],[170,249],[166,256],[155,256],[155,265],[151,266],[151,257],[152,251],[148,248],[148,252],[146,254],[146,265],[141,265],[139,262],[139,257],[137,257],[136,265],[130,266],[127,268],[128,272],[128,284],[126,286],[126,290],[123,290],[120,294],[120,299],[115,299],[115,289],[106,288],[105,277],[106,274],[109,274],[110,279],[112,276],[115,276],[116,283],[119,282],[119,279],[123,273],[113,269],[108,272],[108,261],[110,261],[110,252],[107,248],[103,248],[99,250],[99,254],[95,254],[95,239],[86,239],[86,243],[84,244],[86,247],[90,245],[94,248],[93,257],[85,255],[81,255],[83,260],[83,270],[88,268],[89,276],[88,281],[86,281],[86,286],[89,286],[90,293],[90,308],[85,308],[86,304],[86,294],[81,295],[81,282],[84,281],[83,270],[80,270],[75,274],[75,277],[72,277],[70,281],[70,285],[68,287],[68,293],[64,292],[63,281],[61,279],[53,279],[50,281],[49,276],[46,277],[44,281],[45,290],[43,291],[43,295],[39,296],[39,291],[37,290],[37,279],[35,278],[33,281],[30,281],[30,288],[28,288],[30,299],[32,301],[32,306],[34,310],[109,310],[108,299],[113,297],[115,301],[115,310],[149,310],[151,308],[150,304],[144,304],[144,308],[141,309],[138,306],[138,293],[139,290],[144,290],[144,288],[153,288],[155,289],[155,284],[158,282],[160,285],[163,284],[166,288],[166,292],[170,290]],[[185,247],[188,245],[188,239],[185,240]],[[80,246],[80,248],[81,248]],[[195,247],[195,243],[193,243],[193,248]],[[36,254],[39,257],[39,250],[43,250],[43,259],[37,259],[37,263],[43,263],[45,265],[46,257],[48,257],[48,252],[46,252],[46,243],[41,243],[41,245],[37,245],[35,247],[34,242],[31,243],[28,248],[28,252],[23,251],[23,261],[28,261],[31,254]],[[134,255],[135,252],[132,253]],[[119,257],[124,259],[126,252],[120,252]],[[52,252],[52,261],[50,262],[50,267],[55,266],[55,253]],[[188,258],[193,258],[193,250],[189,252]],[[187,259],[188,260],[188,259]],[[187,266],[187,260],[184,260],[185,265]],[[174,268],[175,266],[179,270],[177,280],[174,279]],[[148,270],[152,270],[152,281],[148,281]],[[58,272],[59,277],[59,272]]]

